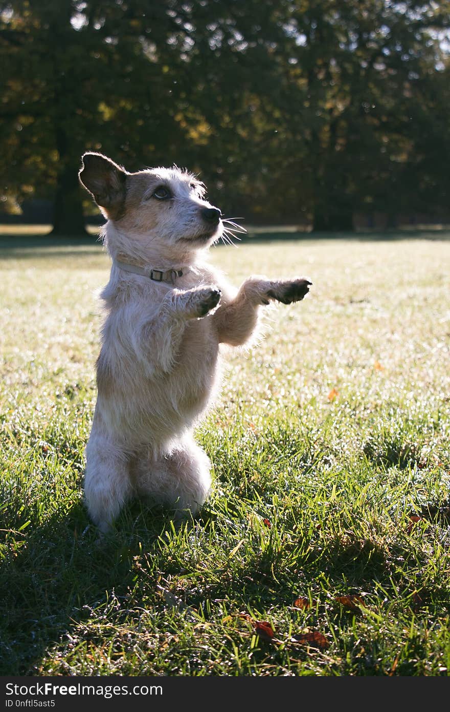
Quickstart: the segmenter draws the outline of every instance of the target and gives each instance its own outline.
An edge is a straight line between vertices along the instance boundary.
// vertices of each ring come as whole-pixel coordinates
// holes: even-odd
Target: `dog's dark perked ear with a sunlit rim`
[[[124,209],[127,172],[101,153],[85,153],[78,175],[97,205],[117,219]]]

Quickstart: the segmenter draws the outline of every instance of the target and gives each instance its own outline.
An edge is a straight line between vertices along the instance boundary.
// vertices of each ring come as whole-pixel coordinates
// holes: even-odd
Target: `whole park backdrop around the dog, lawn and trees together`
[[[448,676],[448,2],[0,3],[0,674]],[[195,429],[197,520],[82,498],[109,258],[98,150],[309,276]]]

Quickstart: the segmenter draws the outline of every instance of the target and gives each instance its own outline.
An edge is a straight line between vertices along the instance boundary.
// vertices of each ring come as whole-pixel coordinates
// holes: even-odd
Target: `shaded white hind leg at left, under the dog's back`
[[[86,448],[85,501],[102,533],[110,530],[133,494],[127,454],[104,435],[92,432]]]

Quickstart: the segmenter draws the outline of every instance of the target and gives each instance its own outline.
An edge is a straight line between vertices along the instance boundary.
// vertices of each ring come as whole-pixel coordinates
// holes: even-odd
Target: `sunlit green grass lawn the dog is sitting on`
[[[450,241],[279,239],[212,260],[236,284],[314,287],[227,356],[196,431],[214,465],[200,518],[174,528],[134,503],[99,547],[82,473],[108,258],[0,252],[0,674],[448,675]],[[295,638],[312,631],[328,647]]]

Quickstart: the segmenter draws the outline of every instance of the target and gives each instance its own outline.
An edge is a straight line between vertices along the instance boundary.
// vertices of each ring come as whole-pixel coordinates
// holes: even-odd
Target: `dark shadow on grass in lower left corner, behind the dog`
[[[23,546],[0,567],[0,675],[40,674],[53,644],[105,607],[112,593],[127,597],[134,554],[139,545],[151,548],[166,524],[161,516],[150,523],[147,511],[144,536],[139,527],[132,535],[119,527],[99,544],[80,502],[27,529]]]

